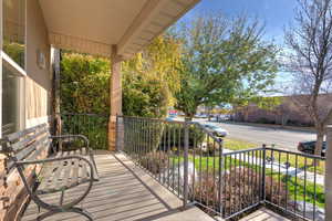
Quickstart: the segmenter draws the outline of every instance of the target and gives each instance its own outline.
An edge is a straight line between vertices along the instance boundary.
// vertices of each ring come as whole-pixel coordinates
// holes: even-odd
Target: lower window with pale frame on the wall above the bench
[[[18,131],[22,122],[22,75],[6,61],[2,63],[2,135]]]

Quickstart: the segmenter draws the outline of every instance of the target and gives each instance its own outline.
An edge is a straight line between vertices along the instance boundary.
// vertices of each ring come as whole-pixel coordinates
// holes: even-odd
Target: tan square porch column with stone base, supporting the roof
[[[110,122],[108,122],[108,150],[116,150],[116,115],[122,115],[122,74],[121,56],[117,55],[116,45],[112,46],[111,77],[110,77]]]

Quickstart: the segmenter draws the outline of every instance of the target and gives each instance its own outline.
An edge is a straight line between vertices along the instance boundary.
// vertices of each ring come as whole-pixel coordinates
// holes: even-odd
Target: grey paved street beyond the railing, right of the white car
[[[315,134],[310,131],[298,131],[290,129],[274,129],[262,126],[247,126],[232,123],[216,124],[229,131],[228,137],[251,141],[258,145],[274,144],[276,147],[297,150],[299,141],[315,139]]]

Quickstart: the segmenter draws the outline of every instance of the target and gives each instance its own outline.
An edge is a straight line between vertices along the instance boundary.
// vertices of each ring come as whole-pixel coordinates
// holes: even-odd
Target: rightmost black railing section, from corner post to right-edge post
[[[304,220],[324,220],[325,158],[266,148],[264,202]]]

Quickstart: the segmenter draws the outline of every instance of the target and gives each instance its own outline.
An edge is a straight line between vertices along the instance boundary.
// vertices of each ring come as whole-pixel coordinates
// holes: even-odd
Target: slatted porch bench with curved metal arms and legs
[[[84,141],[79,148],[56,150],[54,140],[75,139]],[[50,155],[50,152],[52,154]],[[93,181],[98,180],[96,165],[89,140],[83,135],[51,136],[46,124],[13,133],[1,139],[0,152],[7,155],[6,172],[17,169],[31,199],[48,212],[38,217],[42,220],[58,212],[76,212],[89,220],[92,217],[75,207],[90,192]],[[40,159],[41,155],[46,157]],[[40,169],[37,166],[40,165]],[[27,169],[33,168],[33,183],[27,177]],[[80,196],[64,202],[64,192],[85,183]],[[82,190],[82,188],[80,188]],[[41,196],[60,192],[59,204],[50,204]],[[76,196],[76,194],[75,194]]]

